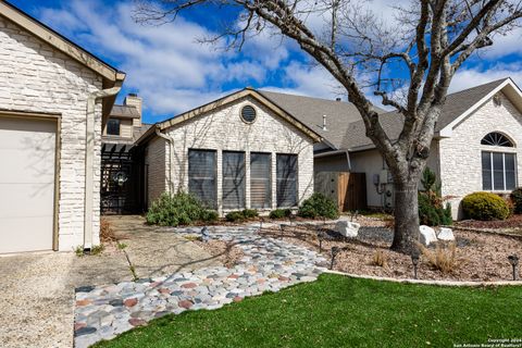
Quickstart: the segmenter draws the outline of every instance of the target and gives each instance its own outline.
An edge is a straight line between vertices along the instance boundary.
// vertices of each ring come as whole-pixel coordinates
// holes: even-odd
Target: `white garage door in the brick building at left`
[[[0,115],[0,253],[52,249],[55,129]]]

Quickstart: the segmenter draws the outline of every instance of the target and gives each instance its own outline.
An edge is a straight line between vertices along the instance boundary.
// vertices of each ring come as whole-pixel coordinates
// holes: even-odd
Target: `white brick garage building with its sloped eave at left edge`
[[[101,129],[124,78],[0,1],[0,253],[99,244]]]

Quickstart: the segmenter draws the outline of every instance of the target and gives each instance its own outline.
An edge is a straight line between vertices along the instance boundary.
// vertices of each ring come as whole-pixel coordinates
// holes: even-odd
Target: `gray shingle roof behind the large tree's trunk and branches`
[[[498,79],[448,95],[436,130],[446,127],[506,79]],[[336,149],[372,146],[372,141],[365,136],[361,115],[352,103],[264,90],[259,90],[259,92],[315,130]],[[391,139],[396,139],[402,128],[402,115],[380,109],[377,111],[381,112],[380,120],[386,134]],[[327,116],[327,130],[322,129],[323,115]]]

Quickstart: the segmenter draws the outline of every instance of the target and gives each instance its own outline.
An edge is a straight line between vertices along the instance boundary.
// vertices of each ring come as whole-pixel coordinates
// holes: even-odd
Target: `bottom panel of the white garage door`
[[[18,217],[2,217],[0,253],[50,250],[49,231],[52,231],[52,219],[48,216],[24,217],[23,224]]]

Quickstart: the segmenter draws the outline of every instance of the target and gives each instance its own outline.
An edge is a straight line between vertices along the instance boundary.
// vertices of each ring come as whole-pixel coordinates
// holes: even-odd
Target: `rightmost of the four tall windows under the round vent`
[[[297,154],[276,157],[277,207],[297,206]]]

